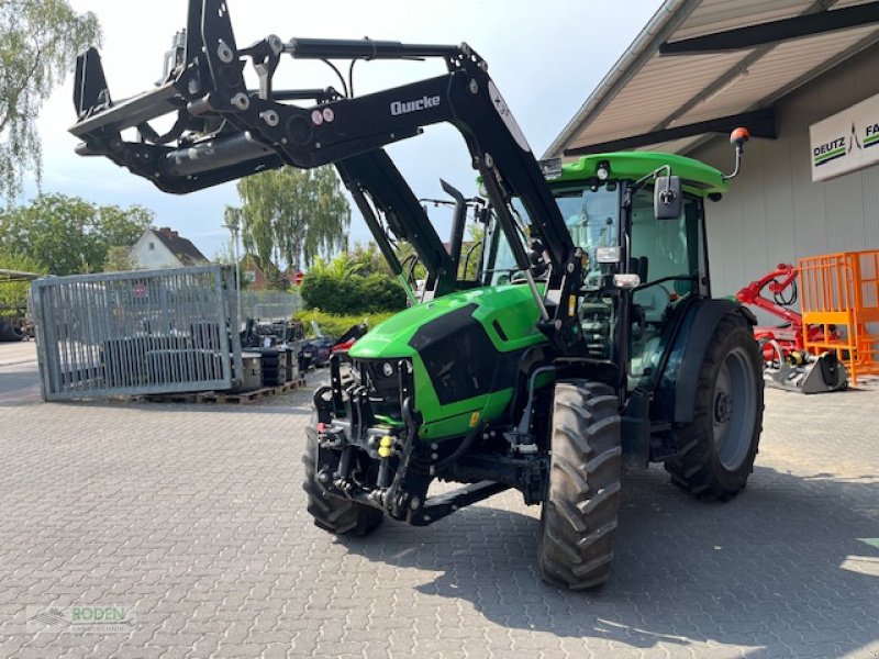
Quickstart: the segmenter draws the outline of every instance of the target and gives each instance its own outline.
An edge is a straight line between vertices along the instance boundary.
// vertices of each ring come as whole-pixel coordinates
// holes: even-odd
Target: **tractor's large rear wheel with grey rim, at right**
[[[665,463],[675,484],[716,501],[745,487],[763,429],[763,358],[750,327],[738,314],[726,314],[699,370],[693,420],[675,431],[680,453]]]

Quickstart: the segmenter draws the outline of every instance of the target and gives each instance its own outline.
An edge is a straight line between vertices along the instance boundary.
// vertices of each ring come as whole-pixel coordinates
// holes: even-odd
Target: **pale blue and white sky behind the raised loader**
[[[78,12],[94,12],[103,29],[101,57],[110,93],[116,101],[146,91],[162,77],[163,57],[175,32],[183,27],[185,0],[70,0]],[[229,0],[238,46],[269,34],[363,38],[403,43],[467,42],[489,64],[489,74],[539,157],[579,110],[589,93],[625,52],[660,0]],[[441,60],[358,63],[357,94],[445,72]],[[171,226],[208,257],[229,241],[223,211],[240,203],[234,182],[187,196],[166,194],[148,181],[100,157],[74,154],[77,139],[67,133],[75,120],[70,76],[45,102],[37,125],[43,141],[43,192],[78,196],[98,204],[141,204],[157,226]],[[255,78],[253,79],[255,80]],[[326,66],[281,60],[276,88],[338,87]],[[251,85],[255,87],[255,81]],[[160,127],[160,126],[158,126]],[[447,125],[388,147],[418,197],[444,197],[439,178],[465,196],[475,193],[475,172],[459,134]],[[19,201],[36,192],[25,183]],[[353,204],[352,204],[353,206]],[[448,215],[431,210],[447,239]],[[349,242],[370,235],[352,208]]]

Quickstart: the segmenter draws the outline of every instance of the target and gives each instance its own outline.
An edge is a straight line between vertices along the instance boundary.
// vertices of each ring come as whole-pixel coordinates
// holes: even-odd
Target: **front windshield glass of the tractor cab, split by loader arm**
[[[616,186],[611,189],[600,187],[587,190],[561,191],[556,196],[568,233],[574,244],[583,250],[583,277],[587,288],[600,284],[599,264],[596,249],[612,247],[619,244],[620,235],[620,191]],[[531,220],[525,206],[519,199],[513,199],[513,210],[523,234]],[[497,227],[497,223],[494,223]],[[496,231],[493,241],[493,259],[491,265],[491,284],[507,283],[519,270],[513,253],[503,232]]]

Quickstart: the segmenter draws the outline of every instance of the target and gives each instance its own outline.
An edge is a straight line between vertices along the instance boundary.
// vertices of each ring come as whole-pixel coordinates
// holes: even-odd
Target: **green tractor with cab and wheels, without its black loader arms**
[[[655,180],[665,167],[679,182]],[[710,293],[704,209],[725,177],[682,156],[619,153],[550,179],[582,259],[568,300],[579,351],[541,326],[546,250],[530,241],[534,295],[487,214],[477,279],[374,328],[348,354],[351,378],[336,358],[315,392],[304,489],[321,528],[366,535],[386,515],[425,525],[515,488],[543,504],[544,579],[590,588],[608,578],[622,469],[664,462],[702,499],[745,487],[763,380],[754,319]],[[525,243],[534,223],[512,208]],[[434,479],[468,484],[427,498]]]

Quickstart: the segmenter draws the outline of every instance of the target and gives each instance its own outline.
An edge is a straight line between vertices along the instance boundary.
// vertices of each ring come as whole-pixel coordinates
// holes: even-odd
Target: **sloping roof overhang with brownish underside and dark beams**
[[[666,0],[546,150],[687,153],[879,43],[879,1]]]

